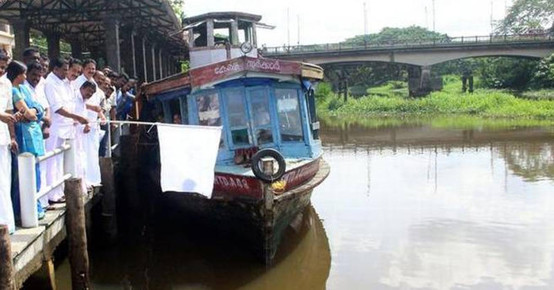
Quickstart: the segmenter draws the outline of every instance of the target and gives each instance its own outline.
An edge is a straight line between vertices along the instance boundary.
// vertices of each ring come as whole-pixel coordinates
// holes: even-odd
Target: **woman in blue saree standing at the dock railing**
[[[14,110],[17,110],[21,117],[20,122],[15,124],[15,136],[19,145],[20,153],[31,153],[35,156],[44,155],[44,139],[42,128],[39,124],[44,116],[44,108],[33,98],[29,88],[23,83],[26,79],[27,68],[19,61],[12,61],[6,68],[6,75],[12,82],[12,97]],[[37,191],[40,189],[39,164],[37,171]],[[44,218],[44,209],[37,202],[39,218]]]

